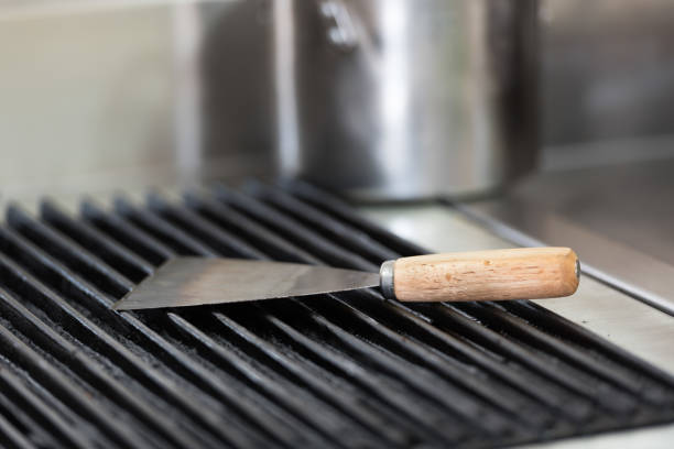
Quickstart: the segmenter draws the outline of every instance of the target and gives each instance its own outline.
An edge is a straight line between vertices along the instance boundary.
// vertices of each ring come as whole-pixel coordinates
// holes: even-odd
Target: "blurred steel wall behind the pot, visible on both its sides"
[[[3,194],[273,172],[298,144],[278,113],[302,95],[279,70],[287,22],[306,29],[291,3],[0,1]],[[536,14],[539,168],[674,156],[674,3]]]

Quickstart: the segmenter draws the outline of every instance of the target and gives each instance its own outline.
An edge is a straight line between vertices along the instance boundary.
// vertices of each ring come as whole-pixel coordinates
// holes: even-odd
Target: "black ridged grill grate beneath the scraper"
[[[674,420],[670,376],[528,302],[109,309],[175,254],[377,270],[422,252],[311,186],[243,191],[7,210],[0,443],[489,447]]]

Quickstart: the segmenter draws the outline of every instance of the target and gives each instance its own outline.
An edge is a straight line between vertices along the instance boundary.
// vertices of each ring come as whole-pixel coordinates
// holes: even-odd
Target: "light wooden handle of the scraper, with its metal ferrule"
[[[501,300],[568,296],[579,276],[569,248],[520,248],[402,258],[382,265],[381,282],[399,300]]]

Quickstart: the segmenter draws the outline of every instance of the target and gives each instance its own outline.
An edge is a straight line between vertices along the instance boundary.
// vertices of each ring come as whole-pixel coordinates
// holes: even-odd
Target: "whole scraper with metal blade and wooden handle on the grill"
[[[568,248],[521,248],[402,258],[379,273],[239,259],[177,258],[115,309],[183,307],[283,298],[380,286],[403,302],[534,299],[568,296],[580,265]]]

